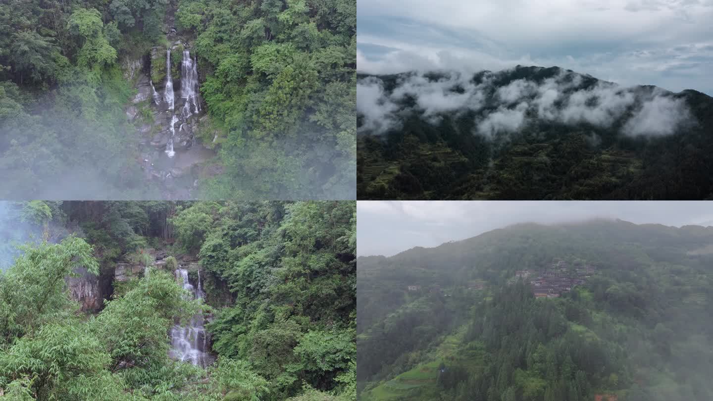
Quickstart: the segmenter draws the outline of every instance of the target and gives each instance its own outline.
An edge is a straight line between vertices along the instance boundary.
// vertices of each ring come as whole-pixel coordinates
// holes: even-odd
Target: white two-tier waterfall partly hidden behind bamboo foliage
[[[203,289],[200,284],[200,270],[198,271],[198,288],[188,283],[188,270],[178,268],[175,270],[176,278],[183,280],[183,288],[188,290],[194,299],[203,298]],[[203,329],[203,315],[198,313],[191,318],[186,327],[174,325],[171,329],[171,357],[181,362],[190,361],[193,365],[207,366],[212,362],[212,357],[207,353],[207,338]]]

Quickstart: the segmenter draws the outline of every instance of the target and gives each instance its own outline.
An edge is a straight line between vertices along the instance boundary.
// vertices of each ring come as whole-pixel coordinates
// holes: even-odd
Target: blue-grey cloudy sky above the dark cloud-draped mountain
[[[560,66],[713,95],[713,0],[359,0],[371,73]]]

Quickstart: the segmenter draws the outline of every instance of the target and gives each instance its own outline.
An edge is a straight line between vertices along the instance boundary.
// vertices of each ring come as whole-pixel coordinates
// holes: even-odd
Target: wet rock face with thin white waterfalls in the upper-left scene
[[[194,188],[187,183],[197,174],[194,167],[214,157],[215,151],[201,146],[195,136],[205,116],[195,52],[175,35],[168,34],[167,39],[170,52],[157,46],[143,58],[122,64],[136,90],[125,112],[135,126],[145,180],[157,185],[166,198],[188,199]]]

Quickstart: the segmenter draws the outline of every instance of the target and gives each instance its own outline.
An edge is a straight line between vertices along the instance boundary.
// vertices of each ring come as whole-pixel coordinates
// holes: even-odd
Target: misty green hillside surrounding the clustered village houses
[[[515,276],[560,261],[595,272],[558,298]],[[713,397],[711,227],[520,224],[357,263],[361,400]]]

